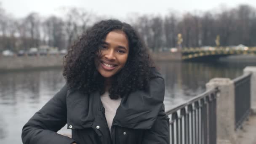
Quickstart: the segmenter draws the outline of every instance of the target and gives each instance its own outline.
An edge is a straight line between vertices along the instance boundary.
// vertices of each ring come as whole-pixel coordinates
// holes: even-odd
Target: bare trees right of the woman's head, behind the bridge
[[[164,17],[139,16],[134,23],[150,48],[176,47],[182,34],[183,47],[220,45],[256,45],[256,9],[249,5],[221,12],[186,13],[181,17],[170,13]]]

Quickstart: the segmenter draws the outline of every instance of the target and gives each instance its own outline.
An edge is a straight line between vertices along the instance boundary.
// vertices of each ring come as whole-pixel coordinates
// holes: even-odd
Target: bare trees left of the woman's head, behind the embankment
[[[0,50],[18,51],[40,45],[67,48],[89,27],[95,16],[78,8],[63,11],[64,19],[42,17],[38,13],[16,19],[0,8]]]

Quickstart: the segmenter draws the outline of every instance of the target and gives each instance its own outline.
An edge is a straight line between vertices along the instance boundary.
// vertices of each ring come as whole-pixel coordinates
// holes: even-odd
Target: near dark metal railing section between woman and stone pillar
[[[216,144],[216,96],[208,90],[169,110],[171,144]]]

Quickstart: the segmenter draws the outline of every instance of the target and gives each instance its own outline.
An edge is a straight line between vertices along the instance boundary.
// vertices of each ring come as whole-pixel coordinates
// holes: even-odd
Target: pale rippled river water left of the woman
[[[22,126],[64,82],[60,69],[0,73],[0,143],[21,144]]]

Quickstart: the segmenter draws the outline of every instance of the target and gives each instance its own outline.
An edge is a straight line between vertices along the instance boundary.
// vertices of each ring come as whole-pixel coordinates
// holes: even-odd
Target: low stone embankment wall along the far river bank
[[[181,53],[151,53],[155,61],[180,61]],[[63,55],[54,56],[0,56],[0,70],[62,67]]]

